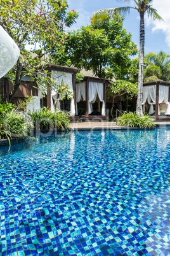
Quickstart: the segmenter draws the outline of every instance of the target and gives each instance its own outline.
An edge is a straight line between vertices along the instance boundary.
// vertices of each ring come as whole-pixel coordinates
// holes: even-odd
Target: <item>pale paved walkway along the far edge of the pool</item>
[[[170,125],[170,121],[155,121],[156,125]],[[129,129],[129,127],[122,127],[116,125],[115,122],[77,122],[70,125],[70,129],[74,130],[89,130],[89,129],[100,129],[100,130],[112,130],[112,129]],[[138,129],[137,127],[132,127],[132,129]]]

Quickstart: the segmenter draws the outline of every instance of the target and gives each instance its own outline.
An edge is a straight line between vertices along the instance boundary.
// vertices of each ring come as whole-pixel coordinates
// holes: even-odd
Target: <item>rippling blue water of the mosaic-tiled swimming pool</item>
[[[170,255],[170,128],[0,149],[0,255]]]

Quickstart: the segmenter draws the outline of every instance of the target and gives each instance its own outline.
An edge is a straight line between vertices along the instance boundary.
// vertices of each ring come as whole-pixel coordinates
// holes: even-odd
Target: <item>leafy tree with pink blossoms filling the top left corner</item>
[[[65,38],[65,27],[74,24],[78,14],[72,10],[67,11],[66,0],[2,0],[0,3],[0,25],[10,34],[20,48],[20,58],[16,66],[11,69],[8,76],[13,82],[13,91],[10,100],[15,95],[20,85],[20,80],[25,75],[30,75],[34,80],[37,72],[42,76],[46,63],[56,62],[51,59],[53,48],[62,49]],[[28,52],[25,45],[31,45],[38,51]],[[44,53],[49,54],[48,59],[42,59]],[[54,57],[54,56],[53,56]],[[44,62],[41,69],[39,66]]]

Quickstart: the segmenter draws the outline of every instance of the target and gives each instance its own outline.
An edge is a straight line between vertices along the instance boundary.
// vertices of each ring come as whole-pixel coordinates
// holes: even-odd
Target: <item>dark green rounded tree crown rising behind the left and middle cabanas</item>
[[[71,60],[72,65],[92,69],[100,77],[105,73],[104,67],[108,65],[113,53],[105,31],[94,30],[91,25],[69,32],[65,41],[65,56]]]

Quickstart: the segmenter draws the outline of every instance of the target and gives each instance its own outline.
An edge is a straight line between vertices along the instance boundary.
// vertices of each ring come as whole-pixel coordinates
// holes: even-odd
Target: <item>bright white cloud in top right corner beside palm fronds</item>
[[[152,20],[147,18],[146,15],[146,25],[153,25],[152,32],[162,31],[166,34],[166,42],[167,45],[170,46],[170,4],[169,0],[154,0],[153,8],[157,10],[160,17],[163,18],[164,21],[160,20]]]

